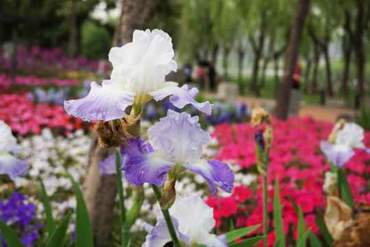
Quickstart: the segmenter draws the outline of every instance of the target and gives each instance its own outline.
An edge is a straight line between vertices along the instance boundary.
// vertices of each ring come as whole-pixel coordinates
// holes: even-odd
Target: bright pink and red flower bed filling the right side
[[[280,198],[284,231],[287,239],[294,242],[297,237],[297,214],[290,199],[299,205],[311,231],[319,236],[314,218],[325,210],[324,174],[330,169],[319,148],[320,140],[327,139],[333,125],[315,121],[310,117],[291,117],[288,121],[273,119],[274,140],[270,152],[268,185],[274,180],[280,183]],[[221,150],[216,158],[234,163],[237,176],[240,173],[256,173],[254,134],[256,129],[249,123],[216,126],[212,137],[217,138]],[[370,132],[365,132],[365,145],[370,145]],[[370,157],[362,150],[344,166],[347,180],[357,202],[370,201]],[[258,175],[256,175],[258,176]],[[260,224],[262,213],[262,176],[250,185],[237,183],[231,196],[209,197],[206,202],[214,208],[217,226],[228,231],[230,219],[236,228]],[[269,191],[269,228],[273,228],[273,187]],[[256,231],[254,232],[256,233]],[[262,233],[262,226],[260,226]],[[269,244],[275,242],[275,233],[269,232]]]

